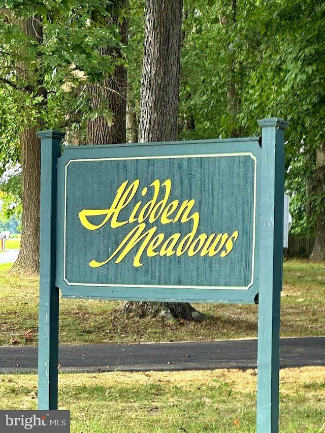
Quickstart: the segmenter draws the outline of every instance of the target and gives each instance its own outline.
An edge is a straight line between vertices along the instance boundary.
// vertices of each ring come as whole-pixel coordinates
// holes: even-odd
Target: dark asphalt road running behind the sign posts
[[[37,371],[37,347],[0,347],[0,373]],[[64,372],[256,368],[257,340],[60,346]],[[325,337],[281,338],[280,366],[325,365]]]

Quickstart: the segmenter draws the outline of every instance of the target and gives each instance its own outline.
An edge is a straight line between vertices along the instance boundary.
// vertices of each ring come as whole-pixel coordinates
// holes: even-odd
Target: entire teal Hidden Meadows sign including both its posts
[[[278,431],[284,129],[262,139],[60,146],[43,131],[40,410],[57,409],[65,297],[258,302],[257,432]]]

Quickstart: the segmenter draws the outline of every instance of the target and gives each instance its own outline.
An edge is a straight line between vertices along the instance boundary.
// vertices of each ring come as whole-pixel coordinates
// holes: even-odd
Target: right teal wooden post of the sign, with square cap
[[[257,433],[279,430],[279,330],[283,260],[284,129],[277,118],[262,127],[261,245],[257,349]]]

